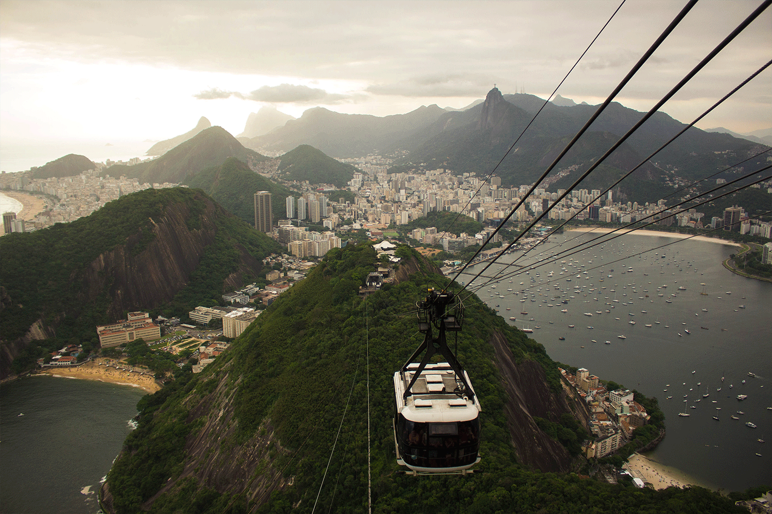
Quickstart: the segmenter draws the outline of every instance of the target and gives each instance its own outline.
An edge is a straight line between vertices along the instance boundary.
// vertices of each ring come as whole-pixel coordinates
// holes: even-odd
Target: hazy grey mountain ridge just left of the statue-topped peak
[[[407,148],[425,140],[426,127],[445,112],[432,105],[407,114],[378,117],[334,113],[315,107],[244,144],[265,153],[287,152],[296,146],[310,145],[337,158],[384,153],[395,146]]]

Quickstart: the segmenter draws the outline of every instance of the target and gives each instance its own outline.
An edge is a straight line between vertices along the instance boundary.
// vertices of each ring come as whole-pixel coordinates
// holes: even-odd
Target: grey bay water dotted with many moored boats
[[[553,237],[517,264],[547,257],[595,234],[570,241],[576,236],[568,232]],[[672,241],[675,238],[626,235],[530,274],[523,271],[492,281],[477,294],[505,319],[516,317],[510,324],[533,329],[530,338],[543,344],[555,361],[587,368],[591,375],[658,398],[667,435],[649,457],[713,489],[772,483],[772,411],[767,410],[772,406],[772,284],[723,268],[722,260],[737,247],[697,240],[607,264]],[[504,256],[485,274],[503,273],[506,268],[499,267],[521,254]],[[472,268],[480,269],[481,264]],[[475,283],[482,285],[482,278]],[[513,291],[507,291],[510,288]],[[749,371],[757,378],[748,376]],[[706,391],[709,397],[703,398]],[[748,398],[737,400],[741,394]],[[685,408],[689,417],[679,417]]]

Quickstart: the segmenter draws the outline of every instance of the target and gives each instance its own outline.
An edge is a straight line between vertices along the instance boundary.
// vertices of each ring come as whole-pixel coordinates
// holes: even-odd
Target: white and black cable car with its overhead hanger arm
[[[463,306],[452,292],[433,289],[417,305],[424,341],[394,373],[397,463],[411,475],[465,475],[480,461],[482,409],[469,375],[445,338],[445,332],[461,330]],[[436,338],[432,328],[438,329]],[[422,351],[426,353],[416,362]],[[445,362],[430,362],[435,354]]]

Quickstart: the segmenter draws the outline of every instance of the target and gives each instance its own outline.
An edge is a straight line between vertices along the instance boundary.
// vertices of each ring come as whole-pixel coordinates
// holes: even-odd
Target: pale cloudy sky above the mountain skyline
[[[619,3],[3,0],[2,156],[167,139],[200,116],[238,134],[265,105],[387,116],[494,84],[546,97]],[[558,93],[601,102],[684,4],[627,0]],[[648,110],[758,5],[699,2],[618,100]],[[772,8],[662,110],[688,123],[769,59]],[[772,126],[772,70],[700,126]]]

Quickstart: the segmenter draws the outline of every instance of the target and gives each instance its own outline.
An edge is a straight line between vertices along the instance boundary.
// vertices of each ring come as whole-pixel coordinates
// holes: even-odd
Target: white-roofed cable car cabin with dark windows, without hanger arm
[[[414,475],[429,473],[466,474],[480,461],[479,408],[469,375],[463,371],[471,392],[459,396],[462,385],[455,371],[446,363],[428,364],[413,384],[405,388],[418,370],[394,373],[394,443],[397,463]],[[471,398],[469,397],[471,394]]]

